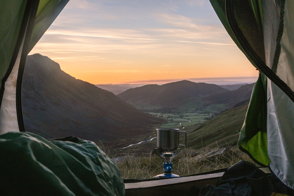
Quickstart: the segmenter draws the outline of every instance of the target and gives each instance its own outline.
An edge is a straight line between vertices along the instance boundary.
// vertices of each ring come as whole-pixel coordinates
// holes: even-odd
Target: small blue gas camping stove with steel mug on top
[[[154,176],[154,178],[162,177],[179,177],[179,175],[172,174],[173,163],[172,159],[178,156],[181,150],[178,146],[185,146],[187,143],[187,132],[180,131],[175,128],[158,128],[157,132],[157,148],[155,153],[164,160],[163,174]],[[180,144],[180,132],[185,133],[185,144]]]

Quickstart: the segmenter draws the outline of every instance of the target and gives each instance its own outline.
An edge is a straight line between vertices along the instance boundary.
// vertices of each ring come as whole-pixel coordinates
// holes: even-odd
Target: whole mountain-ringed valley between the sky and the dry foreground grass
[[[71,77],[40,54],[28,56],[23,86],[26,131],[48,139],[76,136],[118,155],[154,149],[156,128],[187,131],[187,143],[193,148],[213,146],[216,141],[235,145],[247,108],[243,106],[242,115],[236,117],[224,114],[248,104],[253,88],[245,84],[228,90],[184,80],[138,86],[116,96]],[[211,128],[213,122],[221,124]],[[224,132],[227,135],[220,134]]]

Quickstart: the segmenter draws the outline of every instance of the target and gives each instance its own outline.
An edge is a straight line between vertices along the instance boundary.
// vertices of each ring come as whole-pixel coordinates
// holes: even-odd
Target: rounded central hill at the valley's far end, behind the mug
[[[229,91],[215,84],[195,83],[187,80],[163,85],[149,84],[132,88],[117,96],[140,110],[153,111],[162,108],[177,109],[185,100]]]

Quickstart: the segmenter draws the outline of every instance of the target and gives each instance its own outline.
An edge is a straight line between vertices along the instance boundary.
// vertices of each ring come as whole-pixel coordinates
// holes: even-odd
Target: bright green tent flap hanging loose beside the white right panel
[[[240,131],[238,147],[261,166],[267,166],[267,78],[260,73],[250,98],[244,124]]]

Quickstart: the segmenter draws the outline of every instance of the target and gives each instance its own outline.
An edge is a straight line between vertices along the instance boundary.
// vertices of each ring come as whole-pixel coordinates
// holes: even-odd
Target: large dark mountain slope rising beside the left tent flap
[[[111,92],[77,80],[40,54],[27,57],[22,85],[26,131],[45,138],[74,135],[113,145],[163,122]]]

